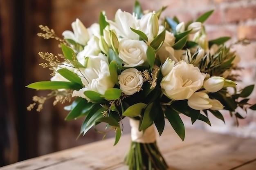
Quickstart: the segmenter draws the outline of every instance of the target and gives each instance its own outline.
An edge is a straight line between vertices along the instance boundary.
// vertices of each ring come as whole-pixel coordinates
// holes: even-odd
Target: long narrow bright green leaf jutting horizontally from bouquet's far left
[[[37,90],[57,90],[57,89],[73,89],[79,90],[83,88],[80,84],[73,82],[52,82],[52,81],[44,81],[44,82],[35,82],[27,85],[28,88],[33,88]]]

